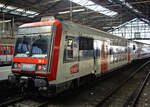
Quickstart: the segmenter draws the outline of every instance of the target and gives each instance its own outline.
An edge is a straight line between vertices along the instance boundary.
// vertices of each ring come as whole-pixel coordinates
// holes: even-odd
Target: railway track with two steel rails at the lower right
[[[140,66],[129,78],[113,89],[96,107],[134,107],[150,75],[150,61]],[[144,78],[144,80],[143,80]]]

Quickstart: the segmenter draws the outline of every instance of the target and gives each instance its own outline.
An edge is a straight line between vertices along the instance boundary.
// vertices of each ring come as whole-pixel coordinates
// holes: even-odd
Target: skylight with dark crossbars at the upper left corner
[[[33,18],[39,14],[37,12],[21,9],[15,6],[5,6],[2,3],[0,3],[0,11],[4,13],[14,14],[14,15],[26,16],[30,18]]]

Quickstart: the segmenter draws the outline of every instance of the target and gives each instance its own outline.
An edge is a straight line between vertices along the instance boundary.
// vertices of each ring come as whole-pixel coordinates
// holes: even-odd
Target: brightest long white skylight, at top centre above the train
[[[101,6],[101,5],[98,5],[94,2],[92,2],[91,0],[70,0],[70,1],[72,1],[76,4],[79,4],[81,6],[84,6],[88,9],[91,9],[93,11],[96,11],[98,13],[104,14],[106,16],[112,17],[112,16],[115,16],[115,15],[118,14],[117,12],[114,12],[110,9],[107,9],[107,8]]]

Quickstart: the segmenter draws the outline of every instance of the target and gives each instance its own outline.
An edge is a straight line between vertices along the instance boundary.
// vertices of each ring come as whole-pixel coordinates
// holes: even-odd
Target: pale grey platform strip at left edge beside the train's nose
[[[0,67],[0,81],[8,79],[8,74],[10,73],[10,70],[11,70],[11,66]]]

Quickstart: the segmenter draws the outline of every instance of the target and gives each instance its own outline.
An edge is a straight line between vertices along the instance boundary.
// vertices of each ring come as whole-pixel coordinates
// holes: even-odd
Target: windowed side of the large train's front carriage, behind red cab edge
[[[59,84],[90,74],[101,75],[128,63],[127,40],[113,43],[112,38],[102,37],[103,33],[90,33],[76,26],[72,29],[66,24],[62,24],[62,29],[57,80],[51,83]],[[79,40],[85,38],[88,38],[89,45],[85,44],[88,48],[79,46],[84,45],[79,44]]]

